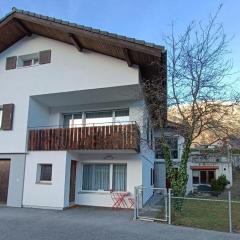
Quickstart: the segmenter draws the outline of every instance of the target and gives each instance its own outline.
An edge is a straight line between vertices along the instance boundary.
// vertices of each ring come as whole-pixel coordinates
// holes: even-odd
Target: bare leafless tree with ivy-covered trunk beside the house
[[[229,41],[223,26],[217,23],[220,9],[221,6],[209,17],[207,24],[192,22],[183,34],[176,35],[172,26],[171,34],[165,38],[168,49],[168,93],[165,97],[168,109],[172,109],[171,120],[177,123],[175,131],[185,138],[178,169],[174,168],[166,140],[167,121],[160,117],[161,106],[157,101],[148,105],[151,111],[159,112],[156,126],[160,129],[167,178],[176,196],[186,193],[191,145],[205,131],[211,129],[216,134],[226,131],[223,120],[238,102],[237,94],[225,81],[232,63],[228,59]],[[144,79],[143,84],[146,95],[156,95],[155,89],[159,91],[153,87],[152,79]],[[158,95],[160,99],[163,92],[159,91]]]

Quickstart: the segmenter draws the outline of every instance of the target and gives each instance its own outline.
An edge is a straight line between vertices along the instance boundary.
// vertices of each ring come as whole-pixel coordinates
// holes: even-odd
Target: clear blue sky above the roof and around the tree
[[[223,9],[218,21],[229,37],[234,36],[229,48],[234,71],[239,71],[240,0],[0,0],[0,17],[15,6],[163,44],[162,37],[169,33],[172,21],[181,32],[192,20],[206,21],[220,3],[223,3]]]

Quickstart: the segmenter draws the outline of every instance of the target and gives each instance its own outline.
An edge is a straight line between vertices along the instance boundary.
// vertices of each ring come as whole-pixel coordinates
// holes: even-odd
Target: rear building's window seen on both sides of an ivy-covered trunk
[[[177,159],[178,158],[178,138],[177,137],[166,137],[166,141],[167,141],[167,143],[169,145],[169,148],[170,148],[171,158],[172,159]],[[155,145],[156,158],[164,159],[163,151],[162,151],[162,147],[161,147],[159,138],[155,139],[155,144],[156,144]]]

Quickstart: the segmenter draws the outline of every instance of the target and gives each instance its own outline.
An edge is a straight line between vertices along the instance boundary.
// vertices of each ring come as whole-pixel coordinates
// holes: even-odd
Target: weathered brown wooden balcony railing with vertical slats
[[[29,130],[29,151],[134,150],[139,152],[136,123]]]

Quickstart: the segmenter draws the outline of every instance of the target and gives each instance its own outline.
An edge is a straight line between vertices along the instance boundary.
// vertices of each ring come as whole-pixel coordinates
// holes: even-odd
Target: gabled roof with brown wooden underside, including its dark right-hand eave
[[[130,67],[138,65],[142,78],[152,80],[151,86],[157,87],[164,96],[160,100],[158,96],[148,97],[147,103],[158,99],[166,118],[166,50],[163,46],[13,8],[0,20],[0,54],[31,34],[74,45],[79,51],[88,49],[115,57]]]

